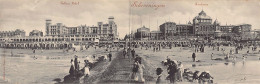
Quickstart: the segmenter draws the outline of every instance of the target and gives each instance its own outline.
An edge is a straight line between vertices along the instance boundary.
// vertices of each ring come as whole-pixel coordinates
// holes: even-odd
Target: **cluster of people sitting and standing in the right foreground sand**
[[[183,81],[184,78],[190,82],[198,81],[200,83],[201,82],[213,83],[213,77],[210,75],[209,71],[203,71],[199,74],[200,71],[193,72],[188,68],[183,69],[183,65],[181,62],[176,60],[171,60],[168,57],[165,61],[162,61],[162,64],[164,66],[167,66],[167,71],[169,75],[167,76],[166,79],[169,79],[170,82]],[[158,71],[160,72],[159,74],[157,74],[159,76],[163,70],[161,70],[160,68],[158,69]]]

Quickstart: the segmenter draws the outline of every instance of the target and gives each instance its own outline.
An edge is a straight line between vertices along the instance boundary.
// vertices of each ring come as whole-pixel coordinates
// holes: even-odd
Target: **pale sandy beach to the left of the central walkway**
[[[0,52],[0,76],[4,76],[5,82],[10,84],[55,83],[54,79],[63,80],[63,77],[69,74],[70,60],[75,55],[79,56],[79,60],[83,62],[87,56],[108,54],[103,48],[97,48],[96,50],[89,48],[88,50],[77,52],[36,50],[35,54],[32,50],[27,49],[1,49]],[[11,55],[11,52],[13,55]],[[4,62],[5,65],[3,65]],[[104,65],[107,64],[102,64],[102,66]],[[2,67],[5,67],[5,72]],[[99,71],[93,69],[91,73]]]

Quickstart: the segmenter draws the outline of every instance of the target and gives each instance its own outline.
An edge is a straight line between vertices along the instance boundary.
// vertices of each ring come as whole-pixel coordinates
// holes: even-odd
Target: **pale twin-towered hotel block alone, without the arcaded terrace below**
[[[118,39],[117,25],[114,17],[108,18],[108,24],[98,22],[97,26],[80,25],[67,27],[62,23],[52,24],[51,20],[46,20],[46,36],[52,37],[100,37],[100,40]]]

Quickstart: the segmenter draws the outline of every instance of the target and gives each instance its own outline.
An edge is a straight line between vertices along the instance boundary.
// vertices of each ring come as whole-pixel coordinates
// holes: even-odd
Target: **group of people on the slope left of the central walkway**
[[[64,77],[64,83],[73,83],[75,81],[84,80],[89,77],[90,70],[96,66],[98,62],[104,61],[108,58],[108,61],[112,60],[112,53],[108,53],[107,55],[102,55],[96,57],[94,54],[92,56],[83,56],[81,57],[84,61],[80,62],[79,56],[74,56],[74,60],[71,59],[71,67],[69,69],[69,75]]]

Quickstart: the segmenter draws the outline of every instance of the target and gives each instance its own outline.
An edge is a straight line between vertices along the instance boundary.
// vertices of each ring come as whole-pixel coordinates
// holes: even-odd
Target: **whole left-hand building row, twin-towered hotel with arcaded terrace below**
[[[62,23],[53,24],[52,20],[46,20],[45,36],[39,30],[33,30],[29,36],[25,31],[0,32],[0,47],[5,48],[41,48],[63,49],[72,45],[85,45],[93,43],[118,42],[117,24],[114,17],[108,18],[108,23],[97,22],[97,26],[80,25],[68,27]]]

